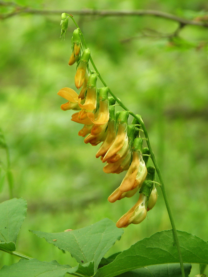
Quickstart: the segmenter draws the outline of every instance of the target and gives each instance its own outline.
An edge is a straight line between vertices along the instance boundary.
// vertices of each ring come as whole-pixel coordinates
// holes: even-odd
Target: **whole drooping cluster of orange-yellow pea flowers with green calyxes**
[[[105,173],[127,171],[120,186],[108,197],[113,203],[124,197],[133,196],[139,189],[139,200],[123,215],[116,226],[127,227],[130,223],[138,224],[145,219],[147,211],[157,201],[154,185],[154,167],[146,168],[149,149],[143,147],[140,137],[139,122],[134,118],[128,125],[129,113],[126,110],[115,113],[115,99],[108,97],[108,87],[97,88],[97,74],[89,69],[90,50],[81,55],[80,31],[76,29],[72,36],[72,54],[69,65],[77,62],[75,86],[80,90],[64,87],[58,94],[68,102],[61,105],[62,110],[76,110],[71,120],[84,124],[78,135],[84,137],[84,143],[96,146],[102,142],[96,153],[101,159]]]

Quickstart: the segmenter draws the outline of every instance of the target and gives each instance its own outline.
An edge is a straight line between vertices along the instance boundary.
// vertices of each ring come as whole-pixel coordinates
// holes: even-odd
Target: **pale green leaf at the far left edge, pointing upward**
[[[0,204],[0,242],[16,243],[26,210],[27,202],[22,198],[13,198]]]

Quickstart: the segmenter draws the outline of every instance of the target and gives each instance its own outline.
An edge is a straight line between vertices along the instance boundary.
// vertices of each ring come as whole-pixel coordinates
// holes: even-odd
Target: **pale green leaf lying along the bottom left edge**
[[[84,276],[92,276],[93,268],[93,263],[70,267],[56,261],[41,262],[37,259],[21,259],[18,263],[3,266],[0,270],[0,277],[64,277],[66,273],[75,272]]]

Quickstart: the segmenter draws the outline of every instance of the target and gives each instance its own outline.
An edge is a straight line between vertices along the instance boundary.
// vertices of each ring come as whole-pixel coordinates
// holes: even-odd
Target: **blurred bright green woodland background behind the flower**
[[[83,8],[154,9],[193,19],[208,10],[205,0],[16,2],[40,10],[60,10],[60,15]],[[8,10],[4,7],[1,11]],[[85,145],[77,134],[82,126],[70,121],[74,111],[60,109],[65,100],[57,95],[59,89],[75,89],[75,66],[67,65],[75,26],[69,21],[66,38],[61,40],[60,15],[21,14],[1,20],[0,127],[9,147],[14,197],[23,197],[28,203],[17,251],[73,266],[76,262],[69,253],[63,254],[28,230],[60,232],[105,217],[116,222],[138,195],[108,203],[125,172],[105,174],[95,158],[99,146]],[[177,29],[177,22],[164,18],[74,18],[107,85],[143,117],[177,229],[208,240],[208,28],[185,26],[180,38],[170,40],[152,31],[167,34]],[[141,30],[150,36],[143,36]],[[4,163],[4,149],[0,153]],[[171,228],[159,188],[158,195],[148,219],[126,228],[108,255]],[[5,182],[0,201],[6,199],[9,190]],[[0,253],[1,267],[17,261]]]

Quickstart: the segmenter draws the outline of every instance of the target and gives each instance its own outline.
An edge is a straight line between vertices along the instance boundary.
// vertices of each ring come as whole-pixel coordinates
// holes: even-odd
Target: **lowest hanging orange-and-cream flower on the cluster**
[[[127,227],[131,223],[141,223],[147,215],[145,207],[146,200],[147,196],[141,193],[137,203],[117,221],[116,226],[118,228],[123,228]]]

